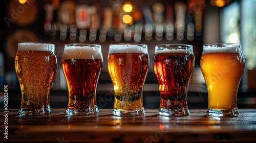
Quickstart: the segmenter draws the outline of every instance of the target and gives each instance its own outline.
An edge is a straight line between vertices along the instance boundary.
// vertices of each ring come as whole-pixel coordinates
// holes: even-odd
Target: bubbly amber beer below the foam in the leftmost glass
[[[51,86],[57,68],[56,57],[51,55],[52,52],[46,51],[18,51],[15,68],[24,108],[44,108],[49,102],[50,91],[45,89]]]

